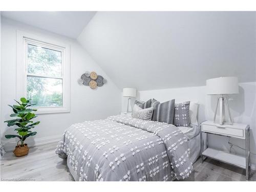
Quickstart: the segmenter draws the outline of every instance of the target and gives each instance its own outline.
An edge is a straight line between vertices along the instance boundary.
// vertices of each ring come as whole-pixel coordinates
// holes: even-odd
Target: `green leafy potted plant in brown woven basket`
[[[6,135],[5,138],[19,138],[17,142],[17,146],[15,147],[15,150],[13,151],[14,155],[16,157],[22,157],[25,155],[28,155],[29,153],[29,147],[24,141],[30,137],[34,136],[36,132],[30,131],[34,128],[35,125],[39,124],[40,121],[34,122],[31,121],[31,119],[37,117],[33,111],[37,111],[36,109],[28,109],[29,106],[32,106],[30,102],[31,99],[27,100],[26,98],[20,98],[20,102],[16,101],[19,105],[9,105],[12,110],[13,114],[10,115],[10,117],[17,117],[16,119],[7,120],[7,126],[18,126],[15,131],[17,131],[18,135]],[[20,142],[20,144],[19,144]]]

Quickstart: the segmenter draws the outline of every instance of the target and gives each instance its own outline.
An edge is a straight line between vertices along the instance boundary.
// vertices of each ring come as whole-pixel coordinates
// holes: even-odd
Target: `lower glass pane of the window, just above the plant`
[[[27,98],[33,106],[62,106],[62,79],[28,76]]]

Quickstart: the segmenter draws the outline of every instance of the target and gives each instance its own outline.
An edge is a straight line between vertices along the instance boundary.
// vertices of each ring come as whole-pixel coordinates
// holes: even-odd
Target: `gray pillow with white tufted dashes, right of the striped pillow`
[[[190,117],[189,117],[189,104],[190,101],[175,103],[175,112],[174,112],[174,125],[176,126],[189,126]]]

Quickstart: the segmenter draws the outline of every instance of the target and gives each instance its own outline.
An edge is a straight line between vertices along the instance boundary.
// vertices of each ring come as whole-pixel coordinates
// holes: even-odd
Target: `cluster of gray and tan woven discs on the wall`
[[[102,87],[107,81],[94,71],[91,73],[86,71],[77,82],[80,86],[89,86],[91,89],[96,90],[97,87]]]

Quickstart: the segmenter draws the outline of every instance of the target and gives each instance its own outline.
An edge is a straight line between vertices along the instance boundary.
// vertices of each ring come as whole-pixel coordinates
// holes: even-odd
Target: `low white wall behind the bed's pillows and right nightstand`
[[[239,84],[239,94],[229,95],[229,107],[231,116],[234,122],[250,124],[250,149],[251,152],[256,154],[256,82],[246,82]],[[139,91],[137,98],[146,101],[150,98],[155,98],[160,102],[164,102],[175,98],[176,102],[182,101],[198,101],[199,107],[199,122],[204,120],[212,120],[214,117],[214,110],[217,104],[217,96],[206,95],[206,87],[189,87],[189,88],[177,88],[177,89],[162,89],[151,91]],[[126,100],[123,99],[123,110],[125,110]],[[236,143],[244,147],[244,141],[241,139],[231,139],[233,143]],[[228,139],[221,136],[210,136],[209,145],[215,148],[220,148],[225,151],[229,151]],[[242,154],[243,151],[234,146],[234,149],[238,154]],[[256,156],[251,155],[251,161],[253,163],[253,169],[256,168]]]

